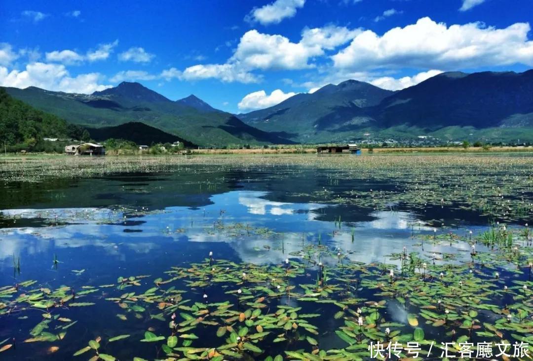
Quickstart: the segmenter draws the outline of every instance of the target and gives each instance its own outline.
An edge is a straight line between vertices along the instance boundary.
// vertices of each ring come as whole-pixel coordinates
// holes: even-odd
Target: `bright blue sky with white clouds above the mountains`
[[[234,113],[346,79],[533,68],[531,0],[13,1],[0,85],[92,93],[139,81]]]

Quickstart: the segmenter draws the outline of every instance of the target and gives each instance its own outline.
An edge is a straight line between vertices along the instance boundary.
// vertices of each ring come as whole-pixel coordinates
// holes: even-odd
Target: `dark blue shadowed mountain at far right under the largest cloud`
[[[398,91],[371,112],[383,128],[533,126],[533,70],[442,73]]]

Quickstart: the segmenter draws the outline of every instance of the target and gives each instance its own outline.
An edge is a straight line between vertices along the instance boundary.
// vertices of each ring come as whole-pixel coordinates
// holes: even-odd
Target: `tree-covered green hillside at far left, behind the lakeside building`
[[[43,138],[81,139],[82,136],[82,128],[14,99],[0,88],[0,141],[6,147],[43,150]]]

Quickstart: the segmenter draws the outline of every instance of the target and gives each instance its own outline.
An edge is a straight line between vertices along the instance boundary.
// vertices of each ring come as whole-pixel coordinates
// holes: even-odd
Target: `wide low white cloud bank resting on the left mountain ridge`
[[[90,94],[96,90],[109,88],[101,85],[100,73],[79,74],[70,77],[63,64],[31,63],[26,70],[11,70],[0,66],[0,85],[4,87],[27,88],[30,86],[68,93]]]

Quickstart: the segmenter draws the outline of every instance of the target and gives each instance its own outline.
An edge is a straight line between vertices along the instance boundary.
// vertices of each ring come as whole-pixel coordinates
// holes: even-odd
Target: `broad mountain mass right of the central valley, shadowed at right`
[[[368,135],[532,141],[533,70],[442,73],[396,92],[349,80],[238,116],[254,127],[285,132],[302,142]]]

